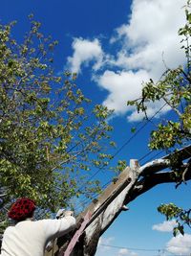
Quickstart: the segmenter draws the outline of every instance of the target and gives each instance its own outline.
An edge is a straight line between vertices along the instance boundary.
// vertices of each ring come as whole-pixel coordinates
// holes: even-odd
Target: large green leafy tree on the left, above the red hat
[[[22,43],[12,38],[15,22],[0,25],[1,221],[14,198],[35,199],[42,214],[91,197],[100,188],[84,186],[86,172],[107,166],[112,156],[103,151],[114,145],[111,111],[90,105],[76,74],[54,75],[57,41],[40,33],[32,15],[30,23]]]

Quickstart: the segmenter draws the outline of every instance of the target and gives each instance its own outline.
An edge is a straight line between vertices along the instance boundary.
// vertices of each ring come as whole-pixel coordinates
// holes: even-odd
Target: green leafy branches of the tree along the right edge
[[[167,68],[161,79],[157,82],[150,80],[145,82],[141,91],[141,97],[135,101],[129,101],[127,105],[135,105],[138,112],[144,112],[147,119],[148,103],[157,101],[168,105],[175,113],[173,120],[163,120],[158,127],[151,132],[149,147],[151,150],[177,151],[190,143],[191,139],[191,1],[187,1],[185,7],[186,24],[180,28],[181,49],[184,50],[186,64],[176,69]],[[191,158],[188,165],[191,164]],[[177,187],[184,182],[186,172],[190,168],[181,168],[179,155],[171,159],[172,169],[175,171]],[[191,209],[184,210],[170,204],[161,204],[159,212],[164,214],[167,220],[175,218],[178,226],[174,229],[174,235],[183,234],[183,225],[191,225]]]

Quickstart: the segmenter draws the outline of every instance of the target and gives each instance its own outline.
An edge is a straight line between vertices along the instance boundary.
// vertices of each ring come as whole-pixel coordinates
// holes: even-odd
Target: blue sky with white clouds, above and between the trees
[[[142,81],[158,81],[165,65],[172,68],[184,63],[177,35],[184,23],[184,4],[184,0],[1,0],[0,21],[17,20],[14,32],[22,38],[29,29],[27,16],[34,14],[42,31],[59,41],[55,71],[77,72],[77,84],[94,104],[115,109],[111,124],[120,148],[131,137],[130,128],[142,118],[126,101],[138,98]],[[162,105],[148,105],[149,117]],[[170,116],[163,107],[158,118]],[[148,151],[152,128],[152,124],[144,128],[117,159],[141,158]],[[99,245],[96,256],[188,255],[190,231],[173,240],[172,232],[167,232],[173,223],[163,222],[157,212],[161,202],[190,207],[188,185],[178,190],[161,185],[132,202],[130,211],[123,212],[102,236],[100,244],[109,246]]]

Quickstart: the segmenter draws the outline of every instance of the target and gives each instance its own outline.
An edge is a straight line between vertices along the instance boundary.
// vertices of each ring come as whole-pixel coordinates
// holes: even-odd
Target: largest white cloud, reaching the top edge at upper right
[[[176,5],[174,0],[134,0],[129,22],[117,29],[123,47],[116,64],[145,69],[153,79],[159,79],[165,69],[162,55],[171,68],[182,64],[178,30],[185,22],[184,4],[184,0],[177,0]]]

